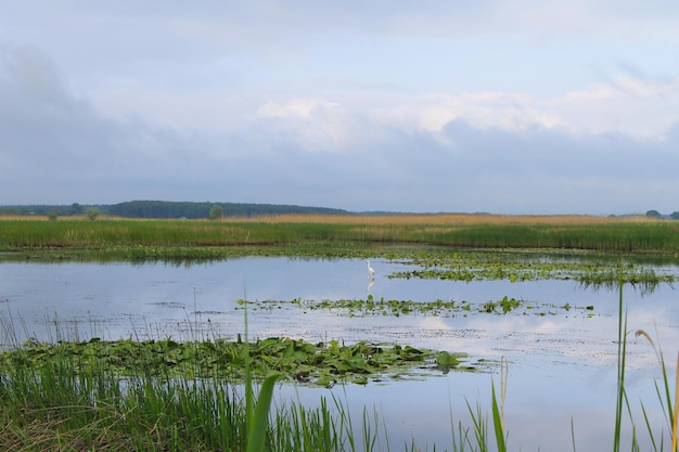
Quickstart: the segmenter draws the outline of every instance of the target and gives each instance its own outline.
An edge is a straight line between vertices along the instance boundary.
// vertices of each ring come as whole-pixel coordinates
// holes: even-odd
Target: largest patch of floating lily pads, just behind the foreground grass
[[[39,343],[29,340],[22,347],[0,354],[0,375],[21,366],[39,367],[54,357],[65,358],[76,373],[105,367],[121,377],[221,377],[231,380],[245,376],[246,358],[254,377],[281,373],[302,384],[331,387],[336,383],[368,384],[388,379],[432,376],[445,364],[471,371],[479,364],[463,363],[464,353],[446,351],[452,360],[440,362],[440,351],[396,344],[354,345],[337,340],[311,344],[303,339],[271,337],[246,345],[226,339],[178,343],[171,339],[114,341],[99,338],[89,341]]]

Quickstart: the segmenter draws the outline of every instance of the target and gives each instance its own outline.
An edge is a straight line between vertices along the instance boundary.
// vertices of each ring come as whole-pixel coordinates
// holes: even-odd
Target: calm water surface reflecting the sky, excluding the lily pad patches
[[[509,360],[505,426],[513,450],[572,451],[571,419],[578,450],[611,447],[615,412],[618,293],[582,289],[574,282],[458,283],[392,280],[401,263],[373,260],[374,283],[363,260],[244,258],[177,267],[163,263],[0,263],[0,339],[35,336],[87,339],[92,336],[189,339],[201,333],[235,337],[243,332],[238,300],[375,299],[483,304],[513,297],[537,305],[505,315],[460,313],[401,317],[348,317],[337,312],[252,310],[251,337],[289,336],[307,340],[388,341],[414,347],[464,351],[474,358]],[[629,330],[643,328],[663,345],[674,375],[679,345],[676,290],[659,286],[641,296],[625,288]],[[593,311],[555,307],[593,306]],[[538,315],[534,312],[552,312]],[[592,313],[593,315],[588,315]],[[209,325],[209,326],[205,326]],[[55,333],[57,332],[57,333]],[[653,349],[644,340],[628,346],[627,388],[632,405],[644,400],[656,411],[653,378],[659,376]],[[357,415],[374,408],[392,450],[403,442],[450,450],[453,422],[469,423],[466,401],[489,412],[490,383],[497,372],[450,373],[426,380],[349,385],[332,391]],[[279,402],[318,404],[329,389],[281,386]],[[360,425],[360,418],[357,417]],[[642,418],[637,418],[642,427]],[[659,418],[658,418],[659,422]],[[642,435],[642,437],[645,437]],[[384,443],[383,443],[384,445]]]

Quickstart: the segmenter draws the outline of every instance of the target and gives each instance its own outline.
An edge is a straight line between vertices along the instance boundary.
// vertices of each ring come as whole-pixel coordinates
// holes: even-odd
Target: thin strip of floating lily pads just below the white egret
[[[470,301],[456,301],[437,299],[434,301],[413,300],[387,300],[375,299],[369,295],[366,299],[338,299],[338,300],[307,300],[295,298],[293,300],[264,300],[244,301],[238,300],[243,307],[247,304],[251,310],[276,310],[283,308],[298,308],[303,310],[317,311],[326,310],[338,315],[366,317],[366,315],[433,315],[433,317],[454,317],[467,315],[470,313],[508,314],[518,311],[523,315],[556,315],[559,312],[587,311],[590,317],[593,306],[574,307],[571,304],[555,306],[553,304],[538,304],[535,301],[520,300],[507,295],[500,300],[472,304]],[[239,309],[239,308],[236,308]]]

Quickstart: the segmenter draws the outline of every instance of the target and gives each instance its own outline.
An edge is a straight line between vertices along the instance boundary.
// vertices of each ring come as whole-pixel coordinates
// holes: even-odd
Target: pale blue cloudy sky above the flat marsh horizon
[[[679,211],[679,2],[0,0],[0,205]]]

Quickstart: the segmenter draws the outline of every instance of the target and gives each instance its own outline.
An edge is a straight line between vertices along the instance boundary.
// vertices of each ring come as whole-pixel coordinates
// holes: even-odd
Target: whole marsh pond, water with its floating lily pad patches
[[[101,245],[87,253],[85,245],[8,247],[0,338],[8,352],[30,359],[54,347],[72,358],[104,357],[120,375],[148,366],[209,378],[210,363],[228,362],[233,367],[219,372],[238,382],[246,327],[254,369],[286,375],[274,404],[317,408],[330,398],[359,419],[374,409],[372,450],[453,450],[457,423],[474,425],[470,404],[490,410],[500,362],[509,369],[510,450],[573,450],[573,437],[577,450],[610,447],[620,284],[627,331],[649,332],[670,358],[679,344],[671,247],[488,249],[354,238],[330,246],[313,236],[313,246],[297,243],[294,253],[280,244],[210,248],[202,259],[158,245],[125,244],[103,261],[84,258],[101,256]],[[152,346],[136,349],[143,344]],[[654,348],[630,334],[626,358],[635,412],[648,400],[651,423],[663,428]]]

